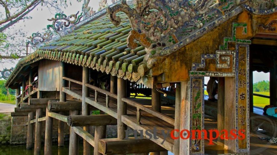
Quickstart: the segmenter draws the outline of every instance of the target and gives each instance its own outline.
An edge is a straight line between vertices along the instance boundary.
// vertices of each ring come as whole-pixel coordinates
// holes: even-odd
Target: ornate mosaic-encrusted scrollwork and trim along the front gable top
[[[134,29],[127,40],[128,47],[136,48],[136,41],[139,41],[140,45],[146,47],[149,56],[153,57],[176,51],[241,12],[242,8],[259,14],[275,12],[275,1],[259,0],[258,6],[257,1],[136,0],[136,5],[130,7],[122,0],[120,4],[107,8],[107,13],[110,20],[118,25],[121,19],[116,13],[125,12]],[[226,40],[228,41],[230,40]]]

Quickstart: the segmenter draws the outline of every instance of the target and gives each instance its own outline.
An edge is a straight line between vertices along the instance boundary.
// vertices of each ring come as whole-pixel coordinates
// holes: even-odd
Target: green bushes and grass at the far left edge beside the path
[[[8,91],[7,88],[5,87],[6,80],[0,80],[0,102],[2,103],[10,103],[10,104],[15,104],[15,90],[9,88],[9,94],[7,95]]]

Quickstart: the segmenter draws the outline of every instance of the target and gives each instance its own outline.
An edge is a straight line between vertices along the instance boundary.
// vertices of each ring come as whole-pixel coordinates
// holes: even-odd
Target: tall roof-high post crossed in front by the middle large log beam
[[[90,115],[90,108],[89,105],[86,103],[85,98],[89,97],[89,89],[85,85],[90,83],[90,71],[89,68],[83,67],[83,76],[82,76],[82,115]],[[90,127],[83,127],[83,129],[87,132],[90,132]],[[83,154],[89,155],[90,154],[90,144],[84,139],[83,140]]]

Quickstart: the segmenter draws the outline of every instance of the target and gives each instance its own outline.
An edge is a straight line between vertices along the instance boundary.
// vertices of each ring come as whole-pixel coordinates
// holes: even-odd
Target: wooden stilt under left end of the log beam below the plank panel
[[[44,155],[51,155],[52,154],[53,118],[48,116],[48,112],[49,112],[49,110],[46,108]]]

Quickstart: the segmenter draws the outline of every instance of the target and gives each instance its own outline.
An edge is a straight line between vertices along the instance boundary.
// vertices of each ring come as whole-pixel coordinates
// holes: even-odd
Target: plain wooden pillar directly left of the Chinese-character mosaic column
[[[225,78],[225,93],[228,94],[224,98],[224,129],[231,131],[235,129],[236,124],[236,86],[235,78],[226,77]],[[228,103],[228,104],[227,104]],[[236,151],[236,141],[235,140],[224,140],[224,148],[231,151]]]

